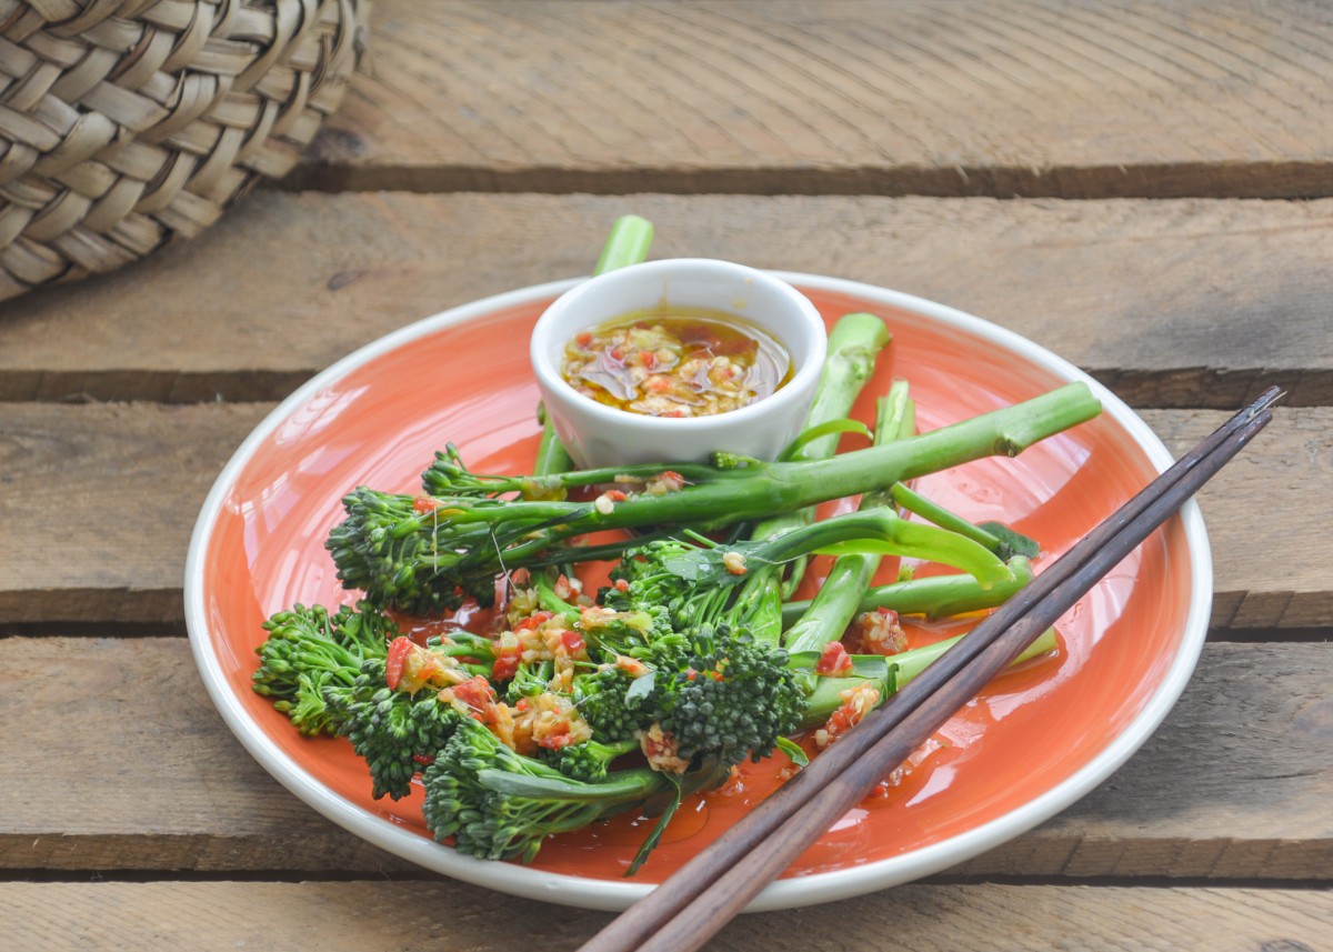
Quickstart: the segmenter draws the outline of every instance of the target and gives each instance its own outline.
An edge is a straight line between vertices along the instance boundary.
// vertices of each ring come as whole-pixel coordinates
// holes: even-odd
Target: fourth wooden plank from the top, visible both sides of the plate
[[[5,733],[23,739],[0,748],[0,868],[412,869],[279,787],[211,707],[183,640],[11,637],[0,672]],[[71,695],[69,672],[97,689]],[[1209,645],[1124,768],[961,872],[1326,880],[1330,675],[1328,644]]]

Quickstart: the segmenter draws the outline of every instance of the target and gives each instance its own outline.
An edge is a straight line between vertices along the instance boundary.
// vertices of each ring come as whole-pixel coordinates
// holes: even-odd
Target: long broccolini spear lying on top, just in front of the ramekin
[[[364,591],[375,604],[431,613],[456,608],[471,593],[485,605],[493,599],[495,576],[504,569],[580,561],[588,549],[573,544],[575,536],[668,523],[720,528],[762,519],[982,456],[1014,456],[1098,411],[1086,385],[1068,384],[830,460],[761,463],[718,453],[713,464],[673,471],[636,465],[544,477],[485,476],[469,472],[451,448],[424,476],[429,496],[365,487],[351,492],[343,500],[347,520],[331,532],[327,548],[343,585]],[[644,491],[608,491],[593,503],[559,499],[576,487],[608,483],[631,483]]]

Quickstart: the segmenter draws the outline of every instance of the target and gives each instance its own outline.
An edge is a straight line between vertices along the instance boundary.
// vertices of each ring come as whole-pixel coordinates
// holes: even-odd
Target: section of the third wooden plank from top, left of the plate
[[[12,575],[0,581],[0,620],[181,620],[195,517],[267,409],[9,405],[0,572]]]

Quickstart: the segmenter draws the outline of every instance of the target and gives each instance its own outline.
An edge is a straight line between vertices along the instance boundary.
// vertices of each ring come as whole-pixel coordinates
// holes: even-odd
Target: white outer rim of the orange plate
[[[938,324],[993,341],[1057,377],[1082,381],[1101,400],[1102,413],[1114,419],[1124,428],[1158,471],[1165,469],[1173,461],[1157,435],[1114,393],[1069,361],[1018,333],[957,308],[901,291],[792,271],[773,271],[772,273],[790,284],[813,291],[861,297],[886,307],[920,313]],[[219,473],[200,509],[185,557],[185,625],[191,651],[204,685],[232,733],[265,771],[319,813],[387,852],[433,872],[499,892],[560,905],[620,911],[648,895],[653,885],[551,873],[513,863],[464,856],[451,847],[433,843],[343,799],[307,775],[253,723],[232,692],[209,637],[204,604],[204,555],[208,551],[212,528],[217,521],[223,503],[231,492],[236,476],[248,464],[255,451],[289,416],[295,407],[304,404],[321,388],[341,379],[349,371],[395,351],[411,340],[500,309],[555,297],[581,280],[585,279],[575,277],[517,288],[408,324],[333,363],[283,400],[240,444]],[[1121,728],[1110,744],[1065,780],[1000,817],[909,853],[845,869],[776,880],[758,893],[745,911],[789,909],[849,899],[948,869],[1050,819],[1118,769],[1152,736],[1180,699],[1194,671],[1208,633],[1213,595],[1213,568],[1208,535],[1202,515],[1193,500],[1181,508],[1177,517],[1181,520],[1185,533],[1192,583],[1180,651],[1172,659],[1142,709]]]

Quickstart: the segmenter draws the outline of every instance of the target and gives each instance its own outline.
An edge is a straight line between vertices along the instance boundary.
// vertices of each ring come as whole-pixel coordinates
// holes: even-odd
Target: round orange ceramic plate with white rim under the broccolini
[[[1170,457],[1120,400],[1008,331],[864,284],[782,273],[828,321],[881,315],[893,332],[857,413],[906,377],[921,429],[1012,404],[1069,380],[1102,400],[1097,420],[1013,460],[920,481],[945,507],[1002,520],[1049,561],[1132,496]],[[635,879],[623,872],[644,828],[632,816],[548,841],[532,865],[457,855],[421,821],[420,791],[371,799],[341,739],[307,740],[249,688],[260,624],[301,601],[355,601],[323,548],[341,496],[359,484],[417,492],[447,441],[480,472],[527,472],[539,427],[528,331],[573,281],[456,308],[389,335],[301,387],[245,440],[200,513],[187,564],[189,637],[208,691],[247,749],[293,793],[371,843],[429,869],[528,897],[620,909],[680,867],[773,783],[749,768],[738,789],[693,800]],[[1150,537],[1060,623],[1054,659],[997,679],[749,907],[821,903],[925,876],[1053,816],[1109,776],[1180,696],[1204,644],[1212,596],[1197,508]],[[917,627],[924,643],[948,633]]]

